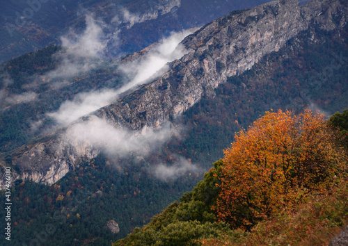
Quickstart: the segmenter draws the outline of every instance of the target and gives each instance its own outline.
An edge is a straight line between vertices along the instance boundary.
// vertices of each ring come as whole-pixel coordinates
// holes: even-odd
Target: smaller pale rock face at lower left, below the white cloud
[[[72,142],[66,138],[65,133],[58,134],[32,147],[25,147],[23,153],[13,156],[13,165],[17,167],[19,173],[12,170],[12,182],[16,179],[27,179],[51,185],[63,178],[70,170],[79,167],[81,162],[95,158],[100,153],[88,142],[81,145],[79,142]],[[5,180],[4,177],[1,181],[3,180]],[[3,189],[5,183],[1,181],[0,188]]]

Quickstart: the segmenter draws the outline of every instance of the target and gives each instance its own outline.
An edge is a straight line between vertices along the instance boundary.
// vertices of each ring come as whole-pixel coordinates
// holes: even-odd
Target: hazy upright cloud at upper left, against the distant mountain
[[[86,30],[81,35],[70,31],[61,38],[63,51],[55,56],[58,67],[47,75],[51,79],[67,79],[102,65],[100,58],[105,44],[102,22],[98,23],[91,15],[86,15]]]

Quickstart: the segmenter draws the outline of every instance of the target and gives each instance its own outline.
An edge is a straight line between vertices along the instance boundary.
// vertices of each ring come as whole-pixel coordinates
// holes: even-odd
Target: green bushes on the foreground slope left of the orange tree
[[[187,245],[198,239],[223,237],[230,230],[223,222],[215,222],[216,216],[210,209],[219,195],[216,183],[221,165],[222,161],[216,161],[204,180],[182,195],[180,202],[173,202],[143,229],[134,229],[115,245]]]

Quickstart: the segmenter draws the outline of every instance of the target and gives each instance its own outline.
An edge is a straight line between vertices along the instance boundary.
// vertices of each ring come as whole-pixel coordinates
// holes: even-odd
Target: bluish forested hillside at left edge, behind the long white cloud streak
[[[69,83],[47,74],[57,68],[61,47],[50,46],[19,56],[0,65],[0,149],[12,151],[40,136],[54,122],[45,113],[89,90],[115,89],[121,85],[120,72],[105,60],[97,69],[77,74]],[[37,128],[35,122],[42,121]]]

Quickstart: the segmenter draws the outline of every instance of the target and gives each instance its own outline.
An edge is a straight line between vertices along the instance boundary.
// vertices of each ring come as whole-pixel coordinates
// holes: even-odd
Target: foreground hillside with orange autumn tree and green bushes
[[[347,113],[267,112],[180,202],[115,245],[329,243],[348,222]]]

